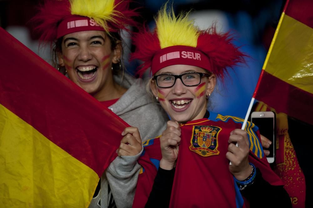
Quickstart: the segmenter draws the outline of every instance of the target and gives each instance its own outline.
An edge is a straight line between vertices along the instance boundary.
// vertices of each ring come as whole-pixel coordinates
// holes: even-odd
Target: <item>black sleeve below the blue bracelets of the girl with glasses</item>
[[[241,194],[249,201],[250,207],[292,207],[290,197],[282,185],[270,185],[256,168],[253,184],[241,190]]]

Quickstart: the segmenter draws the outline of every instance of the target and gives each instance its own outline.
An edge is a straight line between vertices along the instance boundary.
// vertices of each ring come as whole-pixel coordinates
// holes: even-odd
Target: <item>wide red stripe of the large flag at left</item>
[[[129,125],[2,28],[0,34],[0,104],[101,177]]]

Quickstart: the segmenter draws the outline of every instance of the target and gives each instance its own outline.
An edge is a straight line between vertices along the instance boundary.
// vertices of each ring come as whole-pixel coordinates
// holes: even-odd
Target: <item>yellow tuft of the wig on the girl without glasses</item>
[[[116,23],[116,17],[120,16],[115,11],[114,0],[69,0],[71,14],[92,18],[100,24],[105,31],[109,31],[106,22]]]

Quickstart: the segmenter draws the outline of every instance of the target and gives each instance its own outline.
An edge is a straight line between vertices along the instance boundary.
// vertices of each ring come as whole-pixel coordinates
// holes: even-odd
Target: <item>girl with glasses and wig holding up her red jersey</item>
[[[143,143],[133,207],[291,207],[258,128],[248,122],[241,130],[243,119],[207,111],[217,78],[244,63],[232,40],[166,5],[154,32],[135,38],[139,73],[151,68],[148,87],[171,120],[161,137]]]

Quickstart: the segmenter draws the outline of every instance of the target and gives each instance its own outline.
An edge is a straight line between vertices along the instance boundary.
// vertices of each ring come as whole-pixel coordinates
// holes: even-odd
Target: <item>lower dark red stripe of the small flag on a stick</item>
[[[275,90],[273,90],[275,89]],[[279,95],[279,96],[278,96]],[[253,97],[308,124],[313,124],[313,94],[262,70]]]

